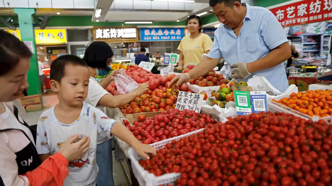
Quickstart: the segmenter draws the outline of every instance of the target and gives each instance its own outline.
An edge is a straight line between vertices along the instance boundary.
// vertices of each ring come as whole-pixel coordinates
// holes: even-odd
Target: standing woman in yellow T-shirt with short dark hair
[[[179,67],[189,64],[197,65],[202,61],[202,55],[208,54],[212,46],[211,38],[202,31],[202,20],[199,16],[192,15],[187,19],[187,28],[190,36],[182,38],[178,50],[180,50]]]

